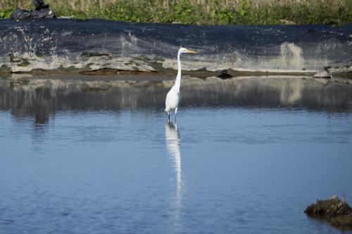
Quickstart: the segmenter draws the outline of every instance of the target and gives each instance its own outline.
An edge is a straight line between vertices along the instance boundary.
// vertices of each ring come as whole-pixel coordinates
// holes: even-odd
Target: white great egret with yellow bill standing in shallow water
[[[177,115],[178,103],[180,103],[180,86],[181,86],[181,61],[180,55],[181,53],[196,53],[187,48],[180,48],[177,53],[177,77],[174,86],[168,91],[165,99],[165,112],[168,112],[169,122],[170,122],[170,112],[171,110],[175,110],[175,120]]]

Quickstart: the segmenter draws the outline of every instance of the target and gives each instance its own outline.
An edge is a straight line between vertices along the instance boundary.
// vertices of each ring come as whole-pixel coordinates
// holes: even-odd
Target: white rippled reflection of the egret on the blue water
[[[179,231],[180,212],[182,208],[182,174],[181,174],[181,151],[180,151],[180,132],[177,130],[177,124],[166,122],[165,124],[166,148],[172,159],[172,166],[176,173],[176,192],[175,192],[175,228]]]

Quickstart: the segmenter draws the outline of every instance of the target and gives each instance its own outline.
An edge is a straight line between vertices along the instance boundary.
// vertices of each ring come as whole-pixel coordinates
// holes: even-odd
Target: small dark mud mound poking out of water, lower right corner
[[[308,216],[327,221],[332,226],[352,230],[352,208],[344,200],[334,196],[328,200],[318,200],[304,211]]]

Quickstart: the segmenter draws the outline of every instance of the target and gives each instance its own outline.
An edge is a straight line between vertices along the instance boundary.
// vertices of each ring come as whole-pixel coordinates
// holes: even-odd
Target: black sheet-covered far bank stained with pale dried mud
[[[352,24],[192,26],[108,20],[0,20],[0,71],[352,71]]]

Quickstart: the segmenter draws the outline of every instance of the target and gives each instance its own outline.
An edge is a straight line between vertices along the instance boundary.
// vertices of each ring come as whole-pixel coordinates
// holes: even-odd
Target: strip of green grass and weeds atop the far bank
[[[130,22],[210,25],[342,24],[352,22],[351,0],[46,0],[58,16]],[[0,18],[30,0],[2,0]]]

